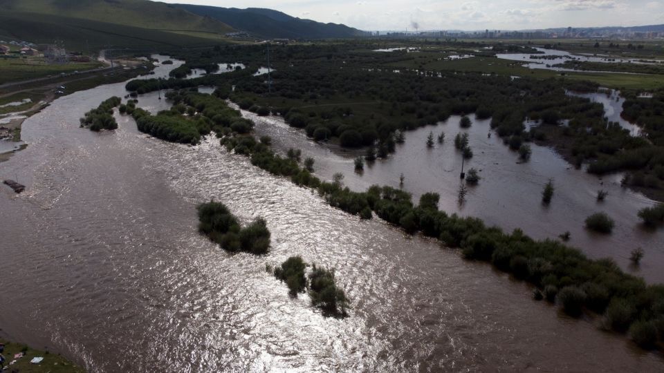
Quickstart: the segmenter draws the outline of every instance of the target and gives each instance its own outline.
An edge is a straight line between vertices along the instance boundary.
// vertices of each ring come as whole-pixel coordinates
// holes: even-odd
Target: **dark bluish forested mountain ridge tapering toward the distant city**
[[[364,36],[365,32],[337,23],[320,23],[263,8],[218,8],[176,4],[181,9],[210,17],[251,35],[284,39],[326,39]]]

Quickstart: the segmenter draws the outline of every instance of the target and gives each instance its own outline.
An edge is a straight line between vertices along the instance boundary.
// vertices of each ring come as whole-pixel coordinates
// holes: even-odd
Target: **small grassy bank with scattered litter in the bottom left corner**
[[[8,367],[8,372],[21,372],[21,373],[76,373],[76,372],[85,372],[82,367],[78,367],[71,361],[68,361],[66,358],[57,355],[50,354],[48,351],[39,351],[34,350],[26,345],[20,345],[18,343],[11,343],[8,341],[0,340],[0,343],[5,345],[5,349],[2,352],[2,355],[6,358],[4,365]],[[21,358],[14,358],[15,354],[23,353],[24,356]],[[35,357],[43,357],[39,364],[30,363]],[[10,362],[16,360],[16,362],[10,365]]]

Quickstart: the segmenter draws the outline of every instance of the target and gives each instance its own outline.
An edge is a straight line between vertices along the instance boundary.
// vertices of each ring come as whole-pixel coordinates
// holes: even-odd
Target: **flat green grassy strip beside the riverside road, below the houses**
[[[98,61],[87,63],[70,62],[68,64],[46,64],[44,59],[39,58],[0,58],[0,84],[48,77],[48,75],[55,76],[62,73],[73,73],[74,71],[84,71],[101,66],[102,64]]]

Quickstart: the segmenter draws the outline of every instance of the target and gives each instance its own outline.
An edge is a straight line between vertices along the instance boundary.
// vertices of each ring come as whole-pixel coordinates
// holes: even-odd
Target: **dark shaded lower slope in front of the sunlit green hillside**
[[[208,34],[195,37],[163,30],[124,26],[58,15],[24,12],[0,12],[0,39],[19,39],[35,44],[64,41],[69,50],[86,51],[103,48],[155,48],[210,46],[225,39]]]

